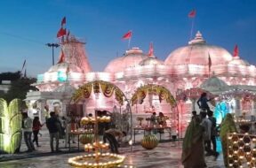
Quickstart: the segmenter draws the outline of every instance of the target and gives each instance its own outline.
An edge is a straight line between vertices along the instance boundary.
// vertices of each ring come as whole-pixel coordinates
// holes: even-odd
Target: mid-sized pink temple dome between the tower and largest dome
[[[140,50],[139,48],[132,48],[132,50],[126,50],[124,56],[117,57],[116,59],[110,61],[106,66],[104,72],[124,72],[125,68],[139,65],[140,62],[146,58],[147,56],[143,54],[142,50]]]

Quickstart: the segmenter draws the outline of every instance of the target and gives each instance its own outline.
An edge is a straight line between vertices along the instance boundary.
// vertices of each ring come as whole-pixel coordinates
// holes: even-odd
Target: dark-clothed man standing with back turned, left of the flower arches
[[[60,120],[56,117],[55,112],[50,113],[50,118],[46,120],[46,126],[49,130],[50,134],[50,146],[51,151],[54,152],[53,149],[53,139],[55,138],[56,141],[56,152],[60,152],[59,150],[59,129],[58,125],[60,125]]]

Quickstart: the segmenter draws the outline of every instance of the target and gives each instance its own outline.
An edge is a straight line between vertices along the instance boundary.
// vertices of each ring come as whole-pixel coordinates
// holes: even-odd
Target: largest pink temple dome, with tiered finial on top
[[[209,56],[211,57],[212,65],[227,64],[232,60],[228,50],[207,44],[202,34],[198,31],[195,39],[188,42],[188,46],[173,50],[165,59],[164,64],[209,65]]]

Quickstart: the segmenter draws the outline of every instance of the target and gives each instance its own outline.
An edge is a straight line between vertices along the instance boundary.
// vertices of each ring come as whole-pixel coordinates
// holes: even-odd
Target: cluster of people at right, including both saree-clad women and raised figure
[[[237,132],[236,124],[233,116],[228,113],[220,126],[216,126],[216,118],[207,104],[209,101],[211,99],[207,99],[205,93],[202,94],[197,102],[201,109],[200,114],[192,111],[192,119],[182,144],[181,161],[184,168],[204,168],[207,167],[204,156],[213,156],[215,160],[219,157],[216,150],[219,130],[224,164],[228,167],[228,134]]]

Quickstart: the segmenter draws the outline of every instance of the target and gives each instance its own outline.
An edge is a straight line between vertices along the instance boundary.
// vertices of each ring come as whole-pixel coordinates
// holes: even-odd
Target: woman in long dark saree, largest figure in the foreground
[[[181,161],[184,168],[204,168],[204,127],[200,126],[200,118],[196,116],[188,125],[182,144]]]

